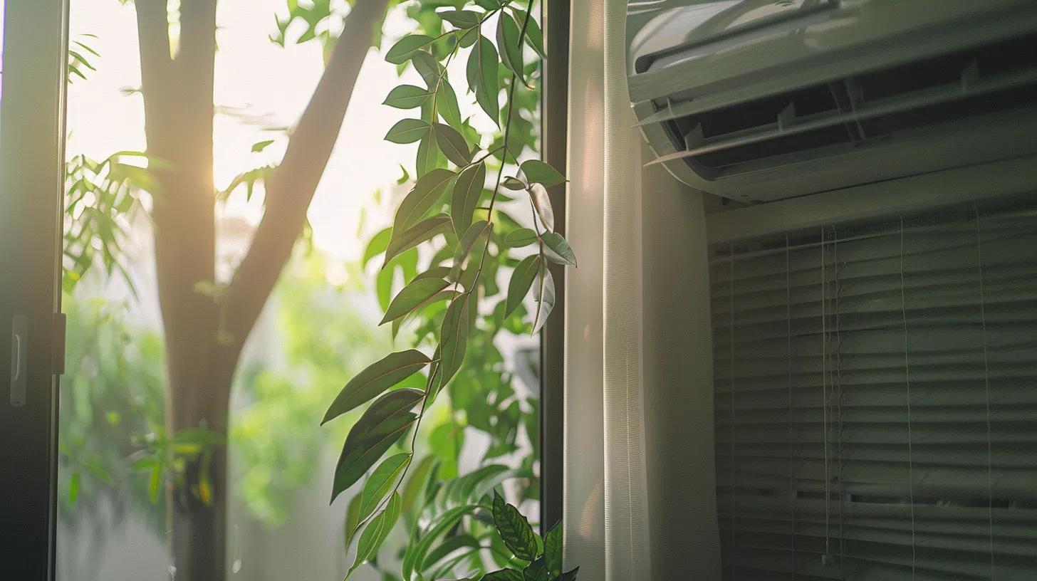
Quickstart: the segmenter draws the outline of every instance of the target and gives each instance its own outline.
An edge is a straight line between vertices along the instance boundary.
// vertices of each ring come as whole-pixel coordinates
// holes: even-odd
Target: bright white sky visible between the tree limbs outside
[[[101,53],[68,91],[71,154],[94,159],[119,150],[144,149],[143,104],[139,94],[125,95],[124,87],[140,86],[140,63],[136,20],[132,5],[117,0],[72,0],[71,37],[86,42]],[[284,0],[221,0],[219,3],[219,52],[216,60],[216,104],[249,115],[265,116],[264,125],[295,125],[323,70],[321,48],[273,44],[274,15],[286,13]],[[299,23],[297,23],[299,24]],[[408,30],[400,13],[386,24],[388,50]],[[99,38],[81,38],[84,33]],[[299,31],[289,29],[293,42]],[[453,68],[453,67],[451,67]],[[417,75],[409,71],[404,81]],[[415,79],[410,82],[420,84]],[[414,147],[383,141],[389,128],[405,112],[381,105],[389,90],[400,83],[394,65],[369,53],[353,94],[345,125],[324,179],[310,205],[310,221],[316,244],[340,256],[355,256],[361,241],[356,231],[361,204],[379,188],[390,188],[400,175],[399,164],[413,165]],[[277,139],[260,154],[252,144]],[[276,163],[284,151],[283,134],[262,131],[237,117],[217,115],[215,130],[216,185],[227,186],[242,171]],[[235,199],[236,198],[236,199]],[[244,189],[228,205],[229,212],[258,221],[258,204],[244,203]],[[384,217],[382,218],[384,219]]]

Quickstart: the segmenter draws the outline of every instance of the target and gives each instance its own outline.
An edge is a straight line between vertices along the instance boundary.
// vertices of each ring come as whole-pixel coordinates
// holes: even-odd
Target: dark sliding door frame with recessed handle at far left
[[[64,0],[0,0],[0,579],[51,577]]]

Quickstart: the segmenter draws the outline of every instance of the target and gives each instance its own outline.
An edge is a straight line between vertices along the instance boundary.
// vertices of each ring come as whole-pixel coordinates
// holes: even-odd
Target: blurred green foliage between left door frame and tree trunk
[[[127,305],[65,295],[66,374],[61,378],[58,495],[63,525],[91,526],[102,513],[129,515],[164,532],[164,503],[130,470],[163,424],[163,347],[127,322]],[[160,491],[163,494],[164,491]]]

